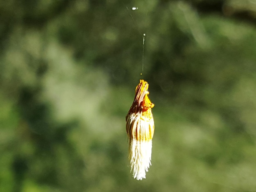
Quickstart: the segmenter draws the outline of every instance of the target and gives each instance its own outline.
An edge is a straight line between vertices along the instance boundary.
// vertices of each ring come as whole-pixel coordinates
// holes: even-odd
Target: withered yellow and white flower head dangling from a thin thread
[[[129,142],[129,160],[133,178],[142,180],[151,165],[154,119],[151,108],[154,104],[148,98],[148,83],[139,81],[135,98],[126,115],[126,132]]]

